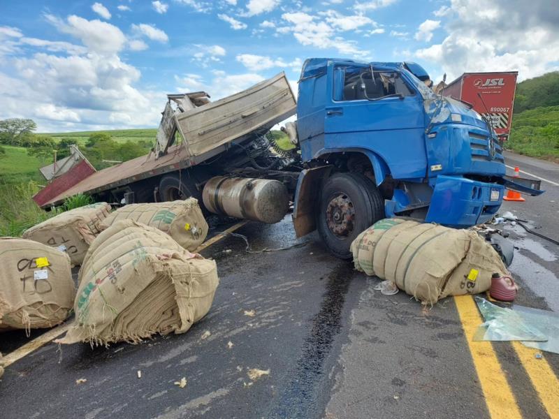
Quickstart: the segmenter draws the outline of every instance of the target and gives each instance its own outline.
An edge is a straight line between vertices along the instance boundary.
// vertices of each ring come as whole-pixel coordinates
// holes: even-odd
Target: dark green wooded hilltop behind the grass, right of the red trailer
[[[516,84],[514,113],[544,106],[559,105],[559,71]]]

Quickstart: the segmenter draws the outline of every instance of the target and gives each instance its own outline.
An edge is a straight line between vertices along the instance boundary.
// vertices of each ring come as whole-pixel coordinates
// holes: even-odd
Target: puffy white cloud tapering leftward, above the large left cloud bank
[[[87,20],[76,15],[68,16],[66,22],[54,15],[45,15],[45,18],[59,31],[79,38],[89,50],[98,54],[115,54],[126,43],[126,36],[120,29],[101,20]]]

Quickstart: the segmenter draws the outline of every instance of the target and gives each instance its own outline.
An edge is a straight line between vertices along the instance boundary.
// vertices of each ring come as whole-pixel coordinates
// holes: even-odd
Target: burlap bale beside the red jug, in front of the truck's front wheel
[[[481,293],[491,286],[491,274],[509,275],[495,249],[473,230],[386,221],[375,224],[384,227],[375,246],[366,246],[363,239],[352,244],[356,269],[393,281],[422,302]]]

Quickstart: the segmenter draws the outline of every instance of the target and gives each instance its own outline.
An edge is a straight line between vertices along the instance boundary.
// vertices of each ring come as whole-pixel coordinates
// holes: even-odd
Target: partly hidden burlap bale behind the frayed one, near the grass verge
[[[109,213],[108,203],[85,205],[29,228],[23,237],[66,251],[73,265],[81,265],[89,244],[101,231],[99,223]]]

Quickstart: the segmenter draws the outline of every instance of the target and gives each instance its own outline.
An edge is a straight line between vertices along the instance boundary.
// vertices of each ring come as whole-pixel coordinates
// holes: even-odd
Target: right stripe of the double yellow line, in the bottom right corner
[[[551,418],[559,418],[559,380],[542,357],[536,358],[537,349],[528,348],[518,341],[512,342],[516,355],[521,360],[526,373],[536,389],[539,399]]]

